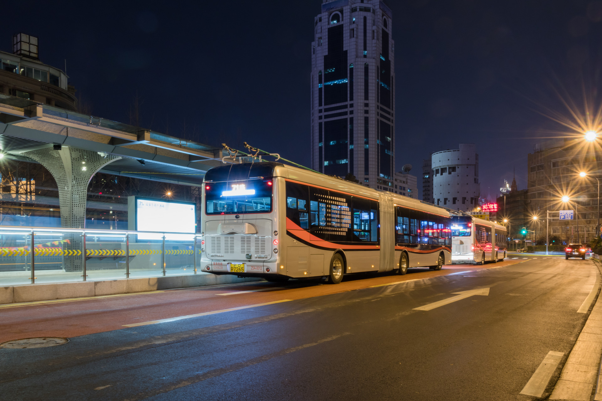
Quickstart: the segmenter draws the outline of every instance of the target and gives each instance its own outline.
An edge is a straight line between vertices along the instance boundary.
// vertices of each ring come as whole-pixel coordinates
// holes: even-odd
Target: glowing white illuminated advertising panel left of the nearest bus
[[[194,233],[196,204],[191,202],[135,197],[137,231]],[[138,239],[161,239],[161,234],[138,234]],[[167,240],[192,240],[191,235],[166,234]]]

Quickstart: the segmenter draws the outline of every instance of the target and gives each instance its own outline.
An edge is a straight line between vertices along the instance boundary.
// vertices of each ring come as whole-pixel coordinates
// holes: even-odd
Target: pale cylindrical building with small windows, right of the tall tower
[[[479,205],[479,155],[475,144],[431,155],[433,203],[470,212]]]

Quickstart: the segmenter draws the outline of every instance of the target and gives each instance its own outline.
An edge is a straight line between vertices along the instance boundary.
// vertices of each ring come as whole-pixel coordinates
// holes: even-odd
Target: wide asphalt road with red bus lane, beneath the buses
[[[2,341],[70,337],[0,349],[0,399],[532,400],[521,389],[550,350],[565,352],[550,393],[596,275],[589,260],[539,257],[338,286],[252,283],[0,308]],[[482,295],[457,294],[475,289]],[[203,315],[124,326],[193,313]]]

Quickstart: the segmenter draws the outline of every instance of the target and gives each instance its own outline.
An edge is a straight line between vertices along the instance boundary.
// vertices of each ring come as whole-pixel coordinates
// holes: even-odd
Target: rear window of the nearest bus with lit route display
[[[272,212],[272,180],[240,180],[205,184],[205,213],[232,215]]]

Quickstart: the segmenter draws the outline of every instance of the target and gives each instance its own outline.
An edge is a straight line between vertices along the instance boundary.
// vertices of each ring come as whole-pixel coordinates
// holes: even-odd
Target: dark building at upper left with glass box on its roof
[[[0,64],[0,93],[76,109],[75,88],[67,83],[66,73],[40,61],[37,37],[13,35],[13,52],[0,51]]]

